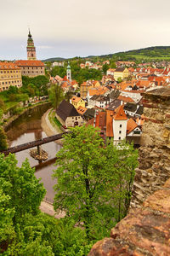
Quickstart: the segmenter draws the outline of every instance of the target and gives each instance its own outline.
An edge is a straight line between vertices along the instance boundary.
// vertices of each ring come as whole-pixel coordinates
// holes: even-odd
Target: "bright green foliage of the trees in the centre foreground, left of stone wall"
[[[98,131],[89,125],[72,129],[57,154],[58,168],[54,177],[58,183],[54,186],[54,208],[58,212],[65,211],[77,223],[83,224],[88,237],[96,238],[99,230],[105,234],[115,220],[124,217],[127,212],[137,154],[132,148],[129,151],[127,144],[123,147],[120,153],[120,150],[110,146],[116,154],[108,154],[109,148],[104,147]],[[122,158],[124,151],[129,152],[127,169]],[[120,179],[120,175],[126,182]],[[129,176],[130,181],[127,180]],[[125,186],[127,183],[130,183],[128,187]],[[118,213],[116,205],[121,205]]]

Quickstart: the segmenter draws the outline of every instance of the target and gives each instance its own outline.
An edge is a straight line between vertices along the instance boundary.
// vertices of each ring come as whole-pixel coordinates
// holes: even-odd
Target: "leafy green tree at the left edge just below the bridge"
[[[9,206],[15,211],[14,225],[21,223],[26,213],[37,214],[45,189],[28,160],[18,167],[14,154],[7,157],[0,154],[0,170],[0,188],[10,197]]]

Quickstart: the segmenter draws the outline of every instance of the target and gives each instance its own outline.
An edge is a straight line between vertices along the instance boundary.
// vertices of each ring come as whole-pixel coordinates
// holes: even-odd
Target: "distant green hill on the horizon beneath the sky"
[[[116,61],[170,61],[170,46],[152,46],[143,49],[133,49],[128,51],[122,51],[115,54],[109,55],[89,55],[82,57],[82,59],[110,59],[114,58]],[[65,58],[50,58],[44,61],[65,61]]]

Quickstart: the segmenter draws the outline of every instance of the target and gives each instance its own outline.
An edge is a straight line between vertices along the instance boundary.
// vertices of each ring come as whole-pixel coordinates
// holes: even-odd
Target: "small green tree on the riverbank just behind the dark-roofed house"
[[[59,103],[64,99],[63,90],[59,84],[52,84],[48,90],[49,100],[55,109],[59,107]]]

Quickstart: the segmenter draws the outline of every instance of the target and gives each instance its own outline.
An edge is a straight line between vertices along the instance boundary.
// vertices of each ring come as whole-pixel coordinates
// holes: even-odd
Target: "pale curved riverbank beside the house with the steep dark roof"
[[[49,119],[48,119],[48,114],[50,113],[52,108],[48,109],[48,111],[46,111],[46,113],[44,113],[42,115],[42,131],[44,131],[46,133],[46,135],[49,136],[53,136],[55,134],[59,134],[62,131],[59,130],[58,126],[55,125],[55,127],[53,125],[51,125]],[[59,145],[62,145],[62,139],[55,141],[54,143],[58,143]]]

